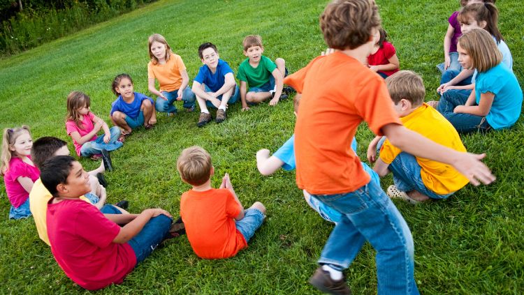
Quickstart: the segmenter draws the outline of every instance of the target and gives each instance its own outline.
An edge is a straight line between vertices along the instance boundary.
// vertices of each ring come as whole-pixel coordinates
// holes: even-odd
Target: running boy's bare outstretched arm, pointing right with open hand
[[[419,135],[419,133],[394,123],[387,124],[381,130],[388,137],[391,144],[402,149],[402,151],[411,153],[413,156],[452,165],[460,174],[469,179],[474,186],[495,181],[495,176],[491,174],[490,169],[481,162],[481,159],[486,156],[485,153],[476,155],[474,153],[455,151],[440,144],[435,144],[435,142]]]

